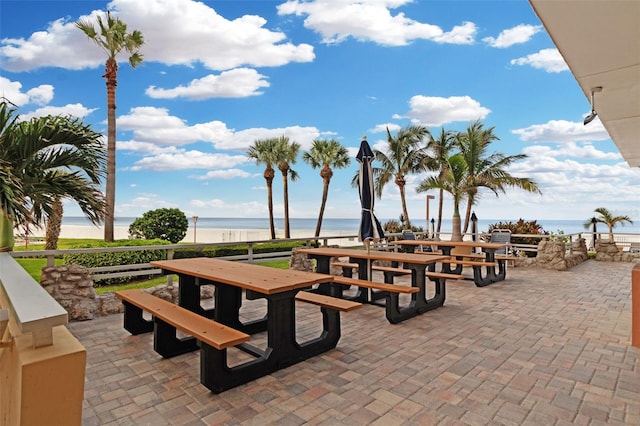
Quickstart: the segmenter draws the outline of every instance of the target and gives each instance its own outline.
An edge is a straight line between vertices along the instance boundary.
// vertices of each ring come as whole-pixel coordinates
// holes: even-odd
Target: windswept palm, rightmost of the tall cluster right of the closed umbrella
[[[508,187],[541,193],[532,179],[515,177],[507,171],[514,162],[527,158],[526,154],[487,153],[491,143],[499,140],[494,133],[494,127],[486,129],[482,122],[477,120],[467,127],[466,132],[458,133],[455,140],[468,167],[467,208],[463,233],[469,229],[471,209],[478,201],[479,188],[488,188],[496,195],[505,193]]]

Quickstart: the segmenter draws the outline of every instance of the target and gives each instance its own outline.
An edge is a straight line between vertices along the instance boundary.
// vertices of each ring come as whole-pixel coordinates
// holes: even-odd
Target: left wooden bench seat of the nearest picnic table
[[[236,346],[248,341],[251,337],[144,290],[121,290],[116,291],[115,295],[216,349]]]

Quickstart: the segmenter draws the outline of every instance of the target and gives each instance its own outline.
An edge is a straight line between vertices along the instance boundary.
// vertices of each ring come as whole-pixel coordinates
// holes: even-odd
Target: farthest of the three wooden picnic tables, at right
[[[473,268],[473,281],[478,287],[485,287],[489,284],[502,281],[507,276],[506,261],[503,258],[496,258],[496,251],[504,248],[505,243],[489,243],[484,241],[435,241],[435,240],[398,240],[392,241],[391,244],[404,247],[420,247],[420,246],[436,246],[442,251],[442,254],[450,258],[450,262],[442,262],[443,273],[462,273],[465,266],[464,254],[452,254],[454,248],[479,248],[484,252],[483,262],[467,262]],[[411,250],[413,252],[413,250]],[[427,252],[428,253],[428,252]],[[454,259],[459,260],[456,263]],[[451,265],[456,265],[452,268]],[[496,272],[496,265],[498,270]],[[485,268],[483,273],[482,268]]]

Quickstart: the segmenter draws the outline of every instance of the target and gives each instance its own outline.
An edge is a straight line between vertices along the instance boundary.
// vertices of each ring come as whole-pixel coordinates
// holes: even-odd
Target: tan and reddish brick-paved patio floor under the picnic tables
[[[397,325],[364,306],[343,314],[335,350],[218,395],[197,353],[162,359],[121,315],[72,323],[88,352],[84,424],[640,425],[632,267],[448,283],[443,308]],[[299,309],[313,335],[319,313]]]

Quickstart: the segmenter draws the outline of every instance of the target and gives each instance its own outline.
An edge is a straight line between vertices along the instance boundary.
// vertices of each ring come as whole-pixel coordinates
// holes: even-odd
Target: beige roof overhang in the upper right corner
[[[629,166],[640,166],[640,0],[529,0]]]

